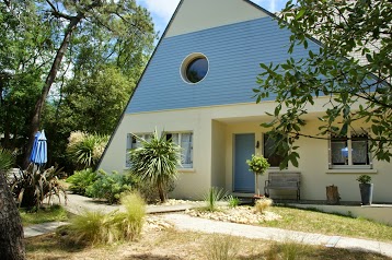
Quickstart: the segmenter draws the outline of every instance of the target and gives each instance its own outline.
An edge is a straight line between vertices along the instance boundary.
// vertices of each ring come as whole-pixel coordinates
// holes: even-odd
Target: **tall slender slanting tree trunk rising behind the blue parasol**
[[[31,126],[30,126],[27,149],[26,149],[26,152],[24,155],[24,162],[23,162],[24,168],[26,168],[30,163],[30,153],[33,147],[35,133],[39,130],[41,116],[42,116],[43,108],[44,108],[44,105],[46,102],[46,97],[50,91],[51,84],[56,80],[56,75],[57,75],[58,69],[60,68],[62,58],[67,52],[71,34],[82,19],[83,19],[83,15],[79,14],[78,16],[73,16],[70,20],[70,22],[67,26],[67,29],[65,32],[65,36],[62,38],[62,43],[61,43],[59,49],[57,50],[55,60],[51,63],[49,74],[46,78],[43,91],[41,93],[41,97],[38,98],[37,103],[35,104],[35,108],[34,108],[34,113],[33,113],[32,121],[31,121]]]

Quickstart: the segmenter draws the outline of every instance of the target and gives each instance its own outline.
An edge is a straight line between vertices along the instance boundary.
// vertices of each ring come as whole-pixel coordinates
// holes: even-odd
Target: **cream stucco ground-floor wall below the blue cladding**
[[[100,165],[109,170],[125,169],[125,151],[127,133],[165,131],[194,132],[194,168],[181,172],[174,192],[176,198],[199,199],[209,187],[224,187],[232,191],[233,179],[233,135],[235,133],[255,133],[262,154],[263,132],[260,123],[268,120],[265,111],[273,111],[273,102],[262,104],[240,104],[235,106],[216,106],[206,108],[189,108],[157,113],[125,115],[112,143]],[[315,134],[319,122],[316,116],[325,108],[319,99],[310,107],[305,118],[307,127],[303,133]],[[358,125],[357,128],[367,126]],[[373,161],[373,169],[328,169],[328,141],[300,138],[299,168],[289,165],[290,172],[300,172],[302,177],[301,198],[304,200],[325,200],[325,187],[338,187],[343,201],[360,201],[356,178],[360,174],[370,174],[373,178],[376,202],[392,202],[392,167],[390,163]],[[277,170],[277,169],[270,169]],[[266,176],[258,178],[258,187],[263,191]],[[241,194],[239,194],[241,196]],[[251,194],[247,194],[251,196]],[[286,198],[286,193],[274,192],[273,196]],[[291,196],[290,198],[293,198]]]

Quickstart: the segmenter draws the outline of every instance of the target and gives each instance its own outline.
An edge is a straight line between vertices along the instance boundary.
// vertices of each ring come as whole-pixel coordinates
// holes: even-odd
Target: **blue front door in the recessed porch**
[[[254,193],[255,177],[249,172],[246,159],[255,152],[254,133],[235,134],[234,137],[234,192]]]

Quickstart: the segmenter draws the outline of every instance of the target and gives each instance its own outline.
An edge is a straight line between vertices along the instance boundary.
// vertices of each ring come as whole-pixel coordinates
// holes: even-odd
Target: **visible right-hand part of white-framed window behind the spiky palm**
[[[193,168],[193,132],[166,132],[166,140],[181,146],[183,168]]]

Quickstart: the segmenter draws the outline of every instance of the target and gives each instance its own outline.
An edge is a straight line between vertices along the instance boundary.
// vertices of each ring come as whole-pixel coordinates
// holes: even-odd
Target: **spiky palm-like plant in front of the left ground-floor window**
[[[164,202],[166,199],[165,187],[177,178],[181,147],[171,140],[166,140],[164,132],[159,137],[157,130],[151,140],[136,138],[142,145],[129,152],[130,172],[139,176],[142,181],[151,181],[157,186],[159,198]]]

